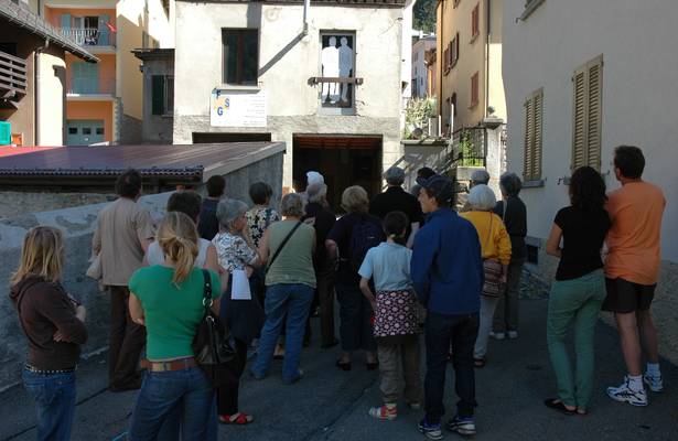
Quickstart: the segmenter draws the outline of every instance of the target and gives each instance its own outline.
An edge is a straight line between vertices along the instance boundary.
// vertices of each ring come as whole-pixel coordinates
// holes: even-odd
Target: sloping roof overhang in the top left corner
[[[47,23],[44,19],[35,15],[28,8],[14,4],[10,0],[0,0],[0,20],[2,19],[24,28],[29,32],[40,35],[43,39],[50,39],[51,43],[63,47],[73,55],[85,61],[92,63],[97,63],[99,61],[99,58],[85,51],[74,40],[64,36],[56,28]]]

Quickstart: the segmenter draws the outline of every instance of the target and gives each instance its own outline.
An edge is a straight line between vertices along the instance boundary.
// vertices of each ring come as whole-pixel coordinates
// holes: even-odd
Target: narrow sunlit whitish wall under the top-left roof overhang
[[[66,61],[63,51],[40,55],[39,139],[41,146],[64,144]]]

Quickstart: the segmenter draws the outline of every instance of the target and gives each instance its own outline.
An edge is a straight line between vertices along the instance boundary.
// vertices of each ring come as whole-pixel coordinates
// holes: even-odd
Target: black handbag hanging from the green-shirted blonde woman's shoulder
[[[203,269],[205,284],[203,306],[205,314],[193,338],[195,362],[205,373],[214,387],[224,387],[238,383],[238,354],[229,343],[228,334],[218,315],[212,312],[212,279],[209,271]]]

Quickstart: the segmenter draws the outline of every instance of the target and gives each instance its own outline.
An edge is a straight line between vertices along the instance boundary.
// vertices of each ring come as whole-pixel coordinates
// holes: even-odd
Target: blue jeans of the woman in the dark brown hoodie
[[[37,440],[69,440],[75,413],[75,373],[35,374],[24,368],[21,376],[37,408]]]

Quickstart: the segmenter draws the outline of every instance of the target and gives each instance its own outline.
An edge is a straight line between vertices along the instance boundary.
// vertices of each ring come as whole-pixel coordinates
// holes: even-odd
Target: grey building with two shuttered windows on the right
[[[463,0],[462,0],[463,1]],[[568,183],[581,165],[620,187],[612,159],[620,144],[643,149],[643,179],[667,200],[657,300],[674,295],[678,273],[678,44],[674,0],[507,0],[504,79],[508,169],[525,180],[530,261],[550,280],[544,252],[553,217],[569,204]],[[518,20],[516,20],[518,19]],[[652,24],[650,24],[652,23]],[[668,314],[655,309],[655,313]],[[672,313],[672,312],[671,312]],[[674,320],[671,318],[670,320]],[[663,342],[678,348],[675,338]]]

